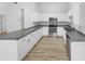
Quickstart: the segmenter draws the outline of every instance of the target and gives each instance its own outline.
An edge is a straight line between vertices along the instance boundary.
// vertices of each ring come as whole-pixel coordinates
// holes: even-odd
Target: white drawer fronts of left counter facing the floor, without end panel
[[[34,47],[42,37],[42,29],[38,29],[28,36],[18,40],[18,60],[23,57]]]

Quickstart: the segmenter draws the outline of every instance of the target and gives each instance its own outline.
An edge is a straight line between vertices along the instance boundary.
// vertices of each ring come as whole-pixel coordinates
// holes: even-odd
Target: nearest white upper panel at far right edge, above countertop
[[[77,29],[85,34],[85,2],[79,7],[79,27]]]

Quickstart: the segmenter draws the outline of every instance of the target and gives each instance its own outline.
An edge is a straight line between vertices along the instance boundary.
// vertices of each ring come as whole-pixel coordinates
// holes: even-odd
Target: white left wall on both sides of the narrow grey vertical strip
[[[8,33],[22,29],[20,9],[25,10],[25,28],[33,26],[33,22],[39,21],[39,13],[36,11],[36,4],[33,2],[9,3],[6,16]]]

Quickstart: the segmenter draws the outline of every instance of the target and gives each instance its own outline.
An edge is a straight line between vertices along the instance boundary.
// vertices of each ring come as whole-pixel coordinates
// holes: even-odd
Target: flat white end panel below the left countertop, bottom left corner
[[[18,60],[16,40],[0,40],[0,61],[16,60]]]

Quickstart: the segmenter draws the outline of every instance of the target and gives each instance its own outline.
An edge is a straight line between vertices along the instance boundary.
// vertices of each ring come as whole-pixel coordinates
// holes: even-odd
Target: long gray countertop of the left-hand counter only
[[[24,30],[17,30],[17,31],[9,33],[6,35],[0,35],[0,40],[17,40],[41,27],[42,26],[33,26]]]

